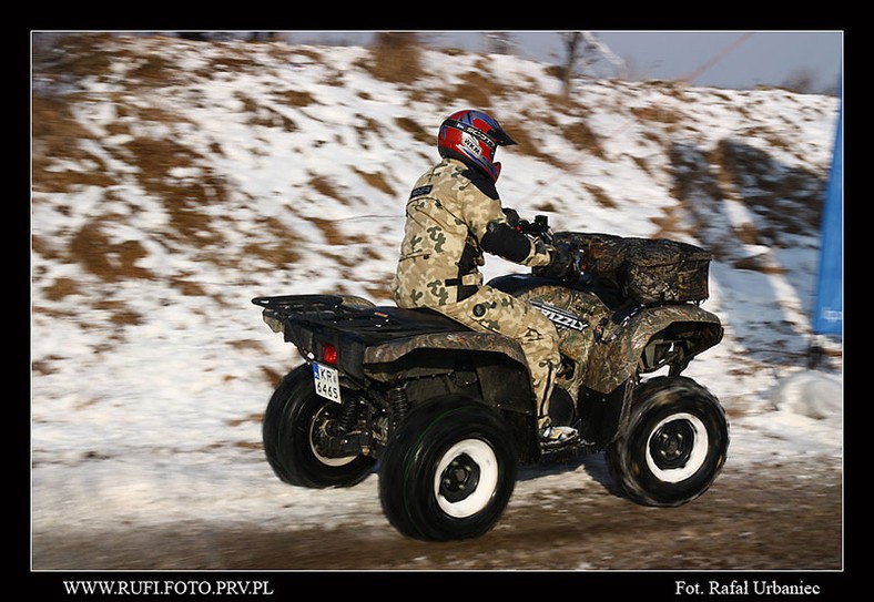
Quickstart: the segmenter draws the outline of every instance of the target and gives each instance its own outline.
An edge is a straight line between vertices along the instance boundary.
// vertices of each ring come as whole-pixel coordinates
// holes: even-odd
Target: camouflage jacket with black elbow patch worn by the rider
[[[434,307],[469,297],[482,285],[484,251],[530,267],[550,258],[542,244],[509,226],[490,180],[446,159],[419,177],[407,201],[395,303]]]

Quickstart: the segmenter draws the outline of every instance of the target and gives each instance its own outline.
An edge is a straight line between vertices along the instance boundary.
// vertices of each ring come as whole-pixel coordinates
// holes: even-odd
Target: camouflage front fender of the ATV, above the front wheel
[[[679,374],[689,360],[722,340],[719,317],[695,305],[648,307],[624,325],[609,325],[586,365],[585,385],[609,394],[636,373],[671,365]]]

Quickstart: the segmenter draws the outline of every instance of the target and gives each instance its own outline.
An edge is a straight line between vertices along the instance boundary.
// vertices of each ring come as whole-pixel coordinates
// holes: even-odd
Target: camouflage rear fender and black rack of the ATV
[[[533,414],[528,364],[508,337],[469,330],[435,312],[375,306],[360,297],[287,295],[253,303],[307,360],[321,360],[322,349],[334,347],[349,384],[415,382],[414,401],[467,392],[501,410]]]

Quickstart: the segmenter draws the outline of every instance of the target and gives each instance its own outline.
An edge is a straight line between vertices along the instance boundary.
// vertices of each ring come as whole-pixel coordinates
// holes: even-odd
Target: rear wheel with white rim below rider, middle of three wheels
[[[497,412],[458,397],[413,409],[386,447],[379,496],[389,522],[426,541],[477,538],[516,486],[511,433]]]

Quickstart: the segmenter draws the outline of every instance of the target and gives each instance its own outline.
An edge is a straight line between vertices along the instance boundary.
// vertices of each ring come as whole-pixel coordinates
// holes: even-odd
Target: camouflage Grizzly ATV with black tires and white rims
[[[520,227],[587,259],[573,282],[517,274],[489,283],[555,323],[562,367],[549,411],[579,436],[540,441],[512,339],[360,297],[258,297],[264,320],[305,360],[264,416],[266,458],[281,480],[349,487],[379,462],[389,522],[431,541],[486,533],[519,466],[581,452],[606,451],[616,483],[639,503],[679,506],[710,487],[728,421],[711,392],[680,376],[722,338],[719,318],[700,307],[710,255],[665,239],[552,235],[542,217]]]

